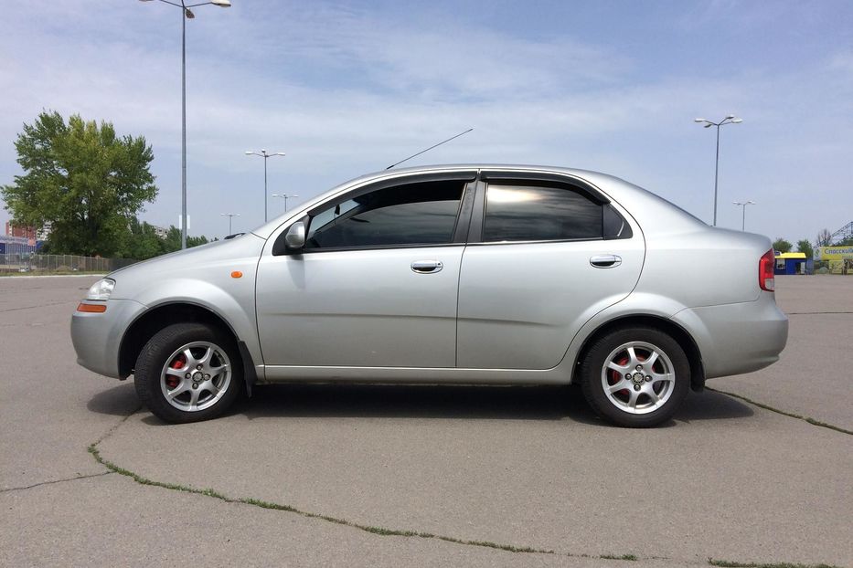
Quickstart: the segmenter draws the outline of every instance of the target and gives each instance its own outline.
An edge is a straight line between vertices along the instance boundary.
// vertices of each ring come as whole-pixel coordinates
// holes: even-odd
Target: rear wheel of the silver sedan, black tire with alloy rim
[[[633,361],[626,346],[634,352]],[[611,362],[624,368],[608,367]],[[690,386],[688,356],[666,332],[651,327],[611,331],[595,340],[579,373],[583,395],[596,414],[615,425],[635,428],[657,426],[672,418]]]

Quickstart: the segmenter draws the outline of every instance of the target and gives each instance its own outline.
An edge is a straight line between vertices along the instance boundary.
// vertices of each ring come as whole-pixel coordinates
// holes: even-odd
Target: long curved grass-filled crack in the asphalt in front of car
[[[270,501],[251,499],[251,498],[240,498],[240,499],[232,499],[227,495],[219,493],[216,489],[195,489],[191,487],[187,487],[185,485],[178,485],[176,483],[165,483],[163,481],[155,481],[154,479],[147,479],[133,473],[133,471],[129,469],[122,468],[121,466],[117,466],[112,461],[105,459],[101,456],[101,451],[98,449],[97,444],[92,444],[89,447],[89,453],[92,455],[92,458],[95,458],[95,461],[101,464],[104,468],[108,468],[119,475],[123,475],[125,477],[133,479],[136,483],[141,485],[150,485],[152,487],[160,487],[164,489],[173,489],[176,491],[183,491],[185,493],[193,493],[196,495],[205,495],[207,497],[213,497],[215,499],[219,499],[225,501],[226,503],[241,503],[243,505],[252,505],[254,507],[260,507],[261,509],[269,509],[269,510],[283,510],[286,512],[294,513],[297,515],[301,515],[306,519],[318,519],[320,521],[328,521],[335,524],[339,524],[345,527],[350,527],[353,529],[358,529],[360,531],[369,532],[371,534],[378,534],[379,536],[401,536],[401,537],[413,537],[420,539],[435,539],[438,541],[444,542],[453,542],[454,544],[466,544],[469,546],[479,546],[483,548],[494,548],[500,551],[506,552],[528,552],[535,554],[556,554],[556,552],[551,550],[537,549],[531,548],[529,546],[513,546],[511,544],[499,544],[497,542],[488,542],[488,541],[465,541],[463,539],[456,539],[450,536],[443,536],[441,534],[432,534],[431,532],[418,532],[418,531],[397,531],[394,529],[385,529],[382,527],[372,527],[369,525],[358,524],[357,522],[347,521],[346,519],[336,519],[335,517],[329,517],[327,515],[321,515],[318,513],[312,513],[304,510],[298,510],[295,507],[291,507],[290,505],[281,505],[279,503],[272,503]],[[571,556],[571,554],[567,554]]]

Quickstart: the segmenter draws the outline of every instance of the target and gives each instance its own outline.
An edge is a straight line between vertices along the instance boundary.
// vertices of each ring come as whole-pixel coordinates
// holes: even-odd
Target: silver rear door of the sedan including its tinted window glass
[[[549,369],[636,284],[645,246],[581,180],[484,172],[459,284],[457,365]]]

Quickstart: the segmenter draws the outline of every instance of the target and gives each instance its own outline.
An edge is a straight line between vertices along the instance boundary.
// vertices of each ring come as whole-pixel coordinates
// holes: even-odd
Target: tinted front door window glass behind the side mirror
[[[395,185],[311,218],[305,248],[439,245],[453,240],[464,182]]]

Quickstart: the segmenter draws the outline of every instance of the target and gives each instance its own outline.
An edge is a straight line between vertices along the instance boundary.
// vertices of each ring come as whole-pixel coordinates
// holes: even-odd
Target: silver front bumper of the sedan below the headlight
[[[83,303],[102,304],[103,302]],[[123,379],[119,373],[119,349],[124,331],[140,313],[144,304],[133,300],[107,300],[103,313],[75,311],[71,316],[71,342],[77,363],[95,373]]]

